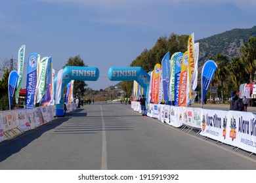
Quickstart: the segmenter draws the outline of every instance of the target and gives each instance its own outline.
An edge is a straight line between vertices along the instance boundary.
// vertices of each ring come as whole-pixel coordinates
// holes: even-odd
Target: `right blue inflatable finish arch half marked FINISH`
[[[108,70],[110,80],[136,80],[146,96],[150,85],[150,75],[142,67],[111,67]],[[148,97],[148,96],[147,96]]]

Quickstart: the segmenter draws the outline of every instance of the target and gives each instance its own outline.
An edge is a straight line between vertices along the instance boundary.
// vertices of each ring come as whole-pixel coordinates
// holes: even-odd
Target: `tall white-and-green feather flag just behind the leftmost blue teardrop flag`
[[[21,84],[22,84],[22,76],[23,76],[23,71],[24,71],[24,58],[25,58],[25,50],[26,50],[26,46],[22,45],[20,46],[20,49],[18,50],[18,83],[17,83],[17,90],[15,92],[15,101],[16,104],[18,104],[18,96],[20,94],[20,88],[21,88]]]

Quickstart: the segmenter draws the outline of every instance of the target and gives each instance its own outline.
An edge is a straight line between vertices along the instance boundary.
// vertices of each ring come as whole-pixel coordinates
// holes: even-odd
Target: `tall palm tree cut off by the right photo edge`
[[[249,74],[250,82],[253,82],[256,71],[256,37],[250,37],[247,44],[242,46],[241,52],[244,69]]]

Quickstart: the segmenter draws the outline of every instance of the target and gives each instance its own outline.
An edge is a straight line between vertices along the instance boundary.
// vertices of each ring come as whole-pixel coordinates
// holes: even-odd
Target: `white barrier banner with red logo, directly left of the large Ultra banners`
[[[182,123],[190,127],[202,128],[202,109],[201,108],[192,108],[192,107],[183,107],[183,116]]]

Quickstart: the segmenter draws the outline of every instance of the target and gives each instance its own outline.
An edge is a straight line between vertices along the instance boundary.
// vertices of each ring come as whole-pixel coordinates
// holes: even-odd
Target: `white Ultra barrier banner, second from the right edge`
[[[224,137],[223,122],[226,122],[228,111],[202,109],[202,131],[201,135],[226,143]]]

